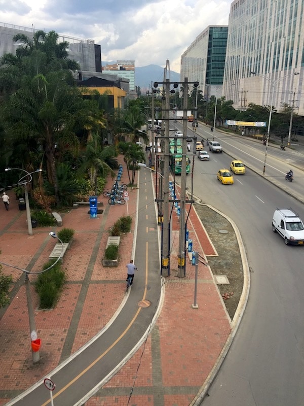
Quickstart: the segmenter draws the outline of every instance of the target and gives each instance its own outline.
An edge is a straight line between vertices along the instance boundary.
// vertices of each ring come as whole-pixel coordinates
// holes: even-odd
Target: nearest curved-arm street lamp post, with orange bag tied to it
[[[60,240],[60,238],[55,234],[55,232],[52,232],[52,231],[50,232],[50,235],[53,238],[56,238],[57,240],[59,240],[59,242],[61,244],[61,247],[62,247],[62,252],[63,252],[64,246],[63,246],[63,242]],[[24,284],[25,284],[25,291],[26,291],[26,302],[27,302],[29,332],[30,332],[30,340],[31,340],[31,342],[33,340],[36,340],[37,331],[36,331],[36,323],[35,323],[33,304],[32,304],[31,294],[30,294],[30,284],[29,284],[28,275],[29,274],[39,275],[39,274],[43,274],[44,272],[47,272],[47,270],[53,268],[56,265],[56,263],[60,260],[60,258],[61,258],[61,254],[59,255],[59,257],[56,259],[56,261],[51,266],[49,266],[48,268],[46,268],[44,270],[41,270],[40,272],[30,272],[27,269],[19,268],[18,266],[11,265],[9,263],[0,261],[0,263],[2,265],[9,266],[11,268],[21,270],[21,272],[23,272],[25,274]],[[36,364],[37,362],[40,361],[40,352],[39,351],[33,351],[33,349],[32,349],[32,361],[33,361],[33,364]]]

